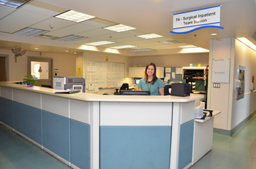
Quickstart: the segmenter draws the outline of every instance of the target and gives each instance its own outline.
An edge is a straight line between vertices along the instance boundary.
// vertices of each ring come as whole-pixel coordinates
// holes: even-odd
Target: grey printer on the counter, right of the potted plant
[[[86,79],[83,77],[53,76],[53,89],[73,89],[86,93]]]

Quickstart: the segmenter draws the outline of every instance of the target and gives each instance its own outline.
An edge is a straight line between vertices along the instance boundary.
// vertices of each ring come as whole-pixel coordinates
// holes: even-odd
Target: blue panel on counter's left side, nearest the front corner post
[[[70,120],[71,163],[78,168],[91,168],[90,125]]]

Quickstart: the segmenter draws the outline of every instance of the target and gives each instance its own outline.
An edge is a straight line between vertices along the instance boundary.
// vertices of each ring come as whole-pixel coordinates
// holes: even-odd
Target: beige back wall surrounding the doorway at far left
[[[28,56],[53,58],[53,68],[59,68],[58,76],[75,76],[75,55],[73,54],[27,51],[23,56],[18,56],[17,63],[12,50],[0,50],[0,54],[9,55],[9,81],[20,81],[24,78],[27,74]]]

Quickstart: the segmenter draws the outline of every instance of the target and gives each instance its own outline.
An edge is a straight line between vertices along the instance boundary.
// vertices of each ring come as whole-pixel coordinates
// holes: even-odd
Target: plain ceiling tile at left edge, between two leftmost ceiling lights
[[[39,15],[36,13],[26,12],[23,10],[16,10],[7,17],[4,17],[1,21],[4,23],[15,23],[15,25],[23,25],[29,27],[30,25],[39,23],[40,21],[45,20],[47,18],[48,16],[45,15]]]

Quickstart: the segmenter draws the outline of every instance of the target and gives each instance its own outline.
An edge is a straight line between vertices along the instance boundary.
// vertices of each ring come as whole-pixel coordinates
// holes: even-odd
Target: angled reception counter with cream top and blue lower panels
[[[0,84],[0,122],[72,168],[189,168],[195,101]]]

